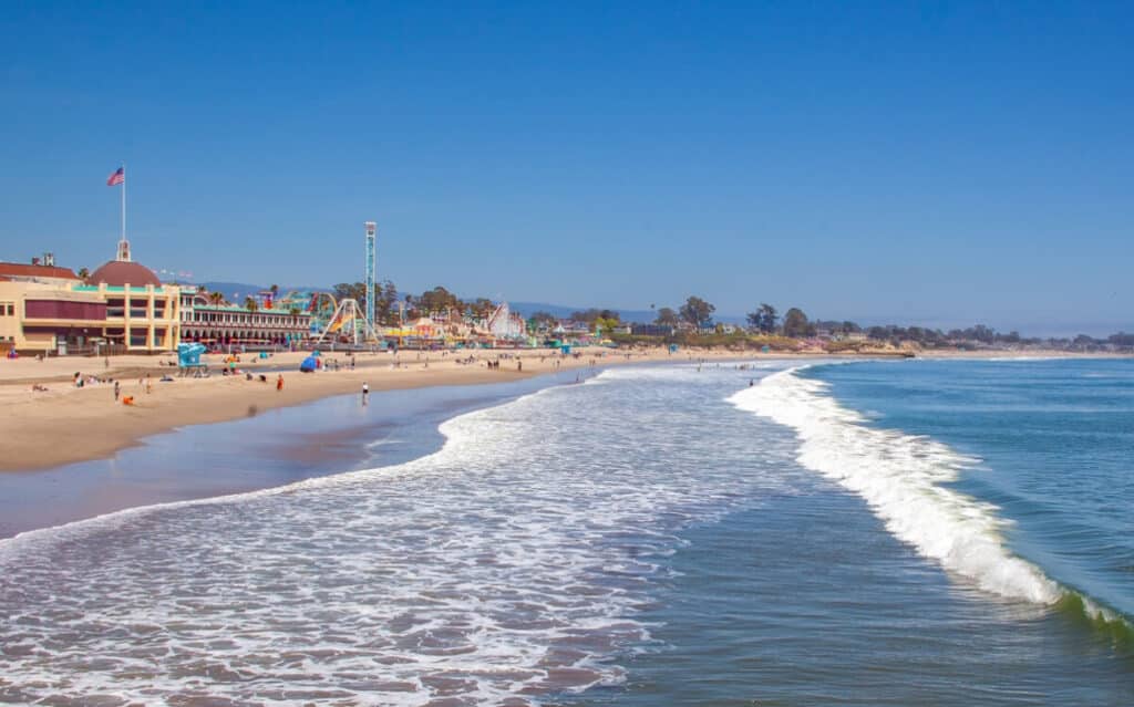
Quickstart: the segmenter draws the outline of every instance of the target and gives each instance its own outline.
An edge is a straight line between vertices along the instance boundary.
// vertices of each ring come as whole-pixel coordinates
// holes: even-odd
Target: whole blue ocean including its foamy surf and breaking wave
[[[0,702],[1134,704],[1134,361],[541,385],[0,540]]]

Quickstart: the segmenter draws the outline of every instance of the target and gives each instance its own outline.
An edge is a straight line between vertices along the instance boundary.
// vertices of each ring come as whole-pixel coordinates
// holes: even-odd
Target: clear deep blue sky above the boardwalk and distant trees
[[[0,258],[1132,330],[1132,8],[6,2]]]

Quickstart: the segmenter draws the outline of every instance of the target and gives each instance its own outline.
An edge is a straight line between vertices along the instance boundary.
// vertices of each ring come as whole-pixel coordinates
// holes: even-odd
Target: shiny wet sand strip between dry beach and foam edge
[[[440,449],[438,426],[446,419],[575,376],[391,390],[365,407],[359,395],[335,395],[152,435],[105,459],[0,474],[0,538],[128,508],[401,463]]]

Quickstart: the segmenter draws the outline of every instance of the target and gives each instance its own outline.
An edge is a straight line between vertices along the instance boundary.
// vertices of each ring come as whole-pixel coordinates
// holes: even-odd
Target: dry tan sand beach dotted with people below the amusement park
[[[371,398],[383,391],[449,385],[507,383],[562,370],[606,368],[643,363],[711,363],[758,359],[854,359],[894,358],[885,354],[762,354],[728,350],[683,349],[669,354],[666,349],[619,351],[617,349],[582,349],[579,356],[560,357],[547,350],[477,350],[471,352],[403,351],[355,356],[349,368],[346,355],[329,354],[338,370],[312,374],[298,372],[306,352],[285,352],[268,359],[245,357],[236,376],[214,373],[209,378],[178,378],[159,382],[162,375],[175,375],[176,367],[164,364],[170,357],[119,357],[115,367],[99,359],[20,359],[0,366],[0,423],[5,428],[5,450],[0,454],[0,472],[34,472],[69,463],[112,458],[121,450],[143,444],[145,437],[191,425],[204,425],[254,417],[262,411],[302,406],[315,400],[361,394],[363,382]],[[490,369],[489,360],[500,357],[500,368]],[[1110,356],[1112,357],[1112,356]],[[210,367],[221,367],[220,356],[209,357]],[[1034,352],[931,352],[920,358],[1099,358],[1059,351]],[[1109,358],[1109,357],[1108,357]],[[1128,357],[1117,357],[1128,358]],[[459,360],[469,360],[462,364]],[[160,363],[159,363],[160,361]],[[522,361],[522,364],[521,364]],[[102,363],[102,366],[99,364]],[[83,370],[82,366],[87,366]],[[521,370],[521,366],[523,369]],[[121,394],[133,395],[134,406],[113,401],[109,383],[78,389],[71,384],[77,373],[121,383]],[[246,380],[245,373],[253,380]],[[152,393],[145,392],[145,375],[150,375]],[[261,382],[264,375],[268,382]],[[276,376],[282,375],[282,391],[276,390]],[[31,392],[43,385],[45,392]]]

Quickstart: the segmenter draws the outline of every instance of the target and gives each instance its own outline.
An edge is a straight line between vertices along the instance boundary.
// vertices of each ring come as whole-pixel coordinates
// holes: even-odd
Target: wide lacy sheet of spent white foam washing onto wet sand
[[[459,416],[404,465],[0,542],[0,699],[499,705],[617,683],[675,531],[782,485],[735,474],[755,442],[705,469],[719,398],[671,375]]]

